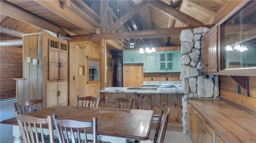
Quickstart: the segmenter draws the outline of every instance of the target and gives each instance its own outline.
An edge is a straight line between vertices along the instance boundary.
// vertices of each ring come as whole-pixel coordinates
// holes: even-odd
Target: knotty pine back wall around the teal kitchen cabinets
[[[156,48],[156,51],[176,51],[180,46]],[[141,86],[143,81],[181,81],[180,72],[144,73],[143,64],[123,64],[123,87]]]

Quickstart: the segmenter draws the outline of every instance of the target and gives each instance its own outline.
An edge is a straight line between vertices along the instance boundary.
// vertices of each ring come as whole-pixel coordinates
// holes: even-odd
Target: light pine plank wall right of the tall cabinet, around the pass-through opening
[[[79,44],[80,48],[76,47]],[[112,59],[112,54],[107,51],[107,59]],[[98,82],[87,84],[88,81],[88,62],[86,57],[100,59],[100,47],[96,43],[82,41],[70,42],[69,53],[69,105],[76,105],[76,96],[100,96],[96,90],[100,89],[100,80]],[[79,75],[79,66],[85,67],[85,75]],[[102,72],[102,69],[100,69]],[[112,73],[110,73],[112,74]],[[100,75],[100,74],[99,74]],[[73,76],[75,79],[73,79]]]

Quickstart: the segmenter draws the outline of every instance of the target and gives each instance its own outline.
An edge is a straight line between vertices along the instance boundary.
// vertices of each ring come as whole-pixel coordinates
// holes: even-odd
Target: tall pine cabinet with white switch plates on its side
[[[68,41],[43,32],[24,34],[22,36],[23,80],[21,81],[23,82],[17,82],[18,84],[16,85],[17,92],[19,92],[17,93],[18,96],[16,95],[17,102],[44,97],[46,104],[48,104],[47,102],[52,102],[52,100],[46,93],[46,84],[56,83],[60,85],[59,82],[65,83],[62,90],[66,92],[65,95],[63,94],[66,100],[68,98]],[[54,42],[50,43],[50,41]],[[60,49],[54,51],[52,50],[54,46]],[[58,68],[60,67],[58,65],[56,68],[52,68],[52,63],[54,62],[62,63],[64,70],[59,72]],[[58,74],[60,74],[59,77]],[[58,79],[55,77],[58,77]],[[68,104],[68,102],[64,104]]]

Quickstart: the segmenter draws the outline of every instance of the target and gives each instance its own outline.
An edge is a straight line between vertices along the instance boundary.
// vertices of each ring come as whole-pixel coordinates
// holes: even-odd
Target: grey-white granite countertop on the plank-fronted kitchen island
[[[128,89],[130,87],[108,87],[102,90],[96,90],[96,92],[108,92],[108,93],[144,93],[144,94],[183,94],[180,84],[172,84],[175,88],[156,88],[156,90],[145,89]]]

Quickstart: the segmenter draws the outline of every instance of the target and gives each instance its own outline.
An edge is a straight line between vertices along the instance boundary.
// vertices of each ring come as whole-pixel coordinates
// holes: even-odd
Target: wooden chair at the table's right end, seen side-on
[[[135,142],[136,143],[163,143],[169,115],[170,115],[170,108],[164,106],[164,104],[161,104],[161,111],[160,111],[159,118],[156,125],[154,141],[150,141],[150,140],[137,141],[136,140]],[[160,132],[159,132],[159,129],[160,129]]]

